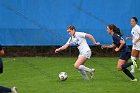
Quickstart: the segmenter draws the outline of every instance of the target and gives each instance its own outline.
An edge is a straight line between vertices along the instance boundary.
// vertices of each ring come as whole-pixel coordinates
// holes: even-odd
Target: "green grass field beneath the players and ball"
[[[82,79],[74,69],[76,58],[70,57],[18,57],[4,58],[4,73],[0,85],[16,86],[19,93],[140,93],[140,81],[131,82],[116,69],[117,58],[95,57],[85,64],[96,69],[90,81]],[[140,62],[139,62],[140,63]],[[61,71],[68,80],[59,81]],[[140,71],[134,74],[140,79]]]

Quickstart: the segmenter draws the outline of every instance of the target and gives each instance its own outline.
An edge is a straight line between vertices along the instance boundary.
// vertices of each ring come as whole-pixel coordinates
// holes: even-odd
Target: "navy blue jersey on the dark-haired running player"
[[[115,44],[116,47],[118,47],[118,48],[120,47],[120,40],[123,40],[124,41],[124,39],[121,36],[119,36],[118,34],[114,34],[112,36],[112,39],[113,39],[113,44]],[[122,49],[120,50],[120,52],[130,52],[130,49],[126,45],[126,43],[124,44],[124,46],[122,47]]]

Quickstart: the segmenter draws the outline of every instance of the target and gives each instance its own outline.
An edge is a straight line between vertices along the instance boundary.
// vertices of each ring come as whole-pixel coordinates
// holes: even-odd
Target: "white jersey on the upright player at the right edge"
[[[140,27],[135,25],[131,31],[132,34],[132,42],[134,43],[140,37]],[[140,41],[136,45],[140,45]]]

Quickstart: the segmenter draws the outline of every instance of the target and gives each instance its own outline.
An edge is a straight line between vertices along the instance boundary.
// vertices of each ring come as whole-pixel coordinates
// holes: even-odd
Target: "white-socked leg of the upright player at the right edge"
[[[135,49],[132,49],[132,53],[131,53],[131,60],[133,62],[133,65],[131,65],[131,73],[134,73],[135,72],[135,67],[137,67],[137,64],[136,64],[136,57],[138,56],[138,51],[135,50]]]

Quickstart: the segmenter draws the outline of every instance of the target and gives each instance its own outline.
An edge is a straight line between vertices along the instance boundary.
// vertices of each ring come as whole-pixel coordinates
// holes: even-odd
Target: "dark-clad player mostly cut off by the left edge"
[[[3,48],[0,46],[0,56],[4,55],[4,50]],[[2,58],[0,57],[0,74],[3,73],[3,62],[2,62]],[[7,88],[7,87],[3,87],[0,86],[0,93],[17,93],[16,87],[13,88]]]

